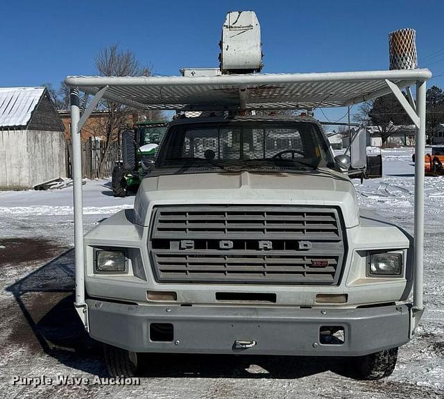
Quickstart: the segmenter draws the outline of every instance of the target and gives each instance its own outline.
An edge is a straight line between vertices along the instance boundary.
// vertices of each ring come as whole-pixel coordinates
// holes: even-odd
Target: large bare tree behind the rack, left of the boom
[[[151,69],[142,67],[130,50],[120,51],[117,45],[103,49],[95,59],[96,69],[101,76],[150,76]],[[117,140],[119,129],[133,126],[133,119],[138,117],[137,110],[114,103],[113,101],[101,101],[99,110],[106,117],[99,118],[99,124],[94,128],[97,136],[104,141],[105,151],[99,160],[99,177],[103,177],[105,161],[110,153],[113,142]],[[151,119],[162,119],[162,112],[151,112]]]

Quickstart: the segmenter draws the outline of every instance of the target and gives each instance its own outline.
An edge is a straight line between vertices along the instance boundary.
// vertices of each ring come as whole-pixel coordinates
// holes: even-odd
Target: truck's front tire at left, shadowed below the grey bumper
[[[126,349],[104,344],[105,364],[112,377],[135,377],[140,369],[139,355]]]

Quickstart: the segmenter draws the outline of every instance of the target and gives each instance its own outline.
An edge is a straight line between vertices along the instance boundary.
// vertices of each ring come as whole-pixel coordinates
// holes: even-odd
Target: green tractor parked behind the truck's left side
[[[132,130],[121,132],[123,161],[112,169],[112,192],[124,197],[136,192],[140,181],[154,163],[157,147],[167,130],[166,121],[137,122]]]

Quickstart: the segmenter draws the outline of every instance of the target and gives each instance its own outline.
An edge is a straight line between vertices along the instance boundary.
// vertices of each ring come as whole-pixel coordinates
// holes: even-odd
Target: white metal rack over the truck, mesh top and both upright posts
[[[316,74],[244,74],[205,77],[68,76],[74,178],[75,306],[85,328],[85,260],[80,129],[101,99],[142,110],[284,110],[347,107],[393,93],[416,125],[413,332],[424,309],[424,155],[428,69]],[[416,101],[410,87],[416,85]],[[80,117],[79,90],[94,98]],[[407,99],[402,90],[406,90]]]

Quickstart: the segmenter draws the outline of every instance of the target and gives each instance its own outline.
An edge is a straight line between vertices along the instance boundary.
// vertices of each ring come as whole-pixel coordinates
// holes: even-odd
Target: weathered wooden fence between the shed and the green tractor
[[[119,142],[112,142],[110,144],[110,151],[108,156],[103,161],[103,173],[100,173],[100,160],[105,153],[105,142],[95,140],[92,137],[87,142],[82,144],[82,175],[84,178],[106,178],[111,176],[112,169],[115,163],[120,160],[120,146]],[[71,173],[71,140],[68,140],[67,145],[67,176],[72,177]]]

